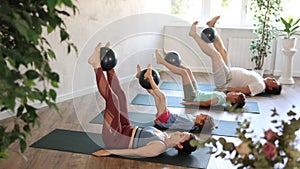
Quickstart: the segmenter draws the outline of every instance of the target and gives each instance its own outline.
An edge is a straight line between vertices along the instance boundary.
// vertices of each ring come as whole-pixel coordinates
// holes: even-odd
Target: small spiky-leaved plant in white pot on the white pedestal
[[[284,25],[284,29],[281,30],[283,32],[282,45],[284,49],[294,49],[296,46],[297,38],[295,35],[300,36],[297,32],[299,28],[300,18],[294,20],[292,17],[288,17],[287,19],[280,18],[282,24]]]

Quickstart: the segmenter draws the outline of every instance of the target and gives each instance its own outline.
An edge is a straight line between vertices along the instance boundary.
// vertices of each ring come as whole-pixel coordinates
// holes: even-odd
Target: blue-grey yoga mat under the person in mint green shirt
[[[224,106],[210,106],[210,107],[199,107],[199,106],[185,106],[182,105],[182,98],[178,96],[166,96],[168,107],[178,107],[178,108],[193,108],[193,109],[204,109],[204,110],[221,110],[224,111],[226,108]],[[135,98],[131,101],[133,105],[144,105],[144,106],[155,106],[154,99],[149,94],[137,94]],[[242,109],[243,113],[254,113],[259,114],[259,107],[257,102],[246,101],[246,105]]]

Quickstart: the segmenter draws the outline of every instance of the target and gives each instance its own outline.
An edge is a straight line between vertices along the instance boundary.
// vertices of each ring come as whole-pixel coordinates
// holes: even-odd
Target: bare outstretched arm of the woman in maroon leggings
[[[111,149],[111,150],[99,150],[92,155],[96,157],[105,157],[109,155],[119,156],[135,156],[135,157],[155,157],[165,152],[166,146],[161,141],[153,141],[148,145],[135,148],[135,149]]]

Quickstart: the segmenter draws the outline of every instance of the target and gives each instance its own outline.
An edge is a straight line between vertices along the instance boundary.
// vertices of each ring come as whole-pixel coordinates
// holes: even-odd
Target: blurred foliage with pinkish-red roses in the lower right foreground
[[[258,137],[250,129],[249,120],[240,122],[236,130],[241,142],[238,145],[227,142],[224,137],[193,141],[192,144],[212,145],[214,149],[211,154],[230,160],[238,169],[299,168],[300,138],[297,138],[296,132],[300,132],[300,117],[292,110],[287,112],[287,120],[281,120],[279,114],[276,109],[272,110],[271,123],[274,128],[265,130],[264,135]]]

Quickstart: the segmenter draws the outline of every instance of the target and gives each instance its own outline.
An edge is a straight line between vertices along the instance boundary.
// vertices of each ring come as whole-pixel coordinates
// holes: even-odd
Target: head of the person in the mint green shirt
[[[241,92],[228,92],[226,100],[235,108],[243,108],[246,104],[246,95]]]

